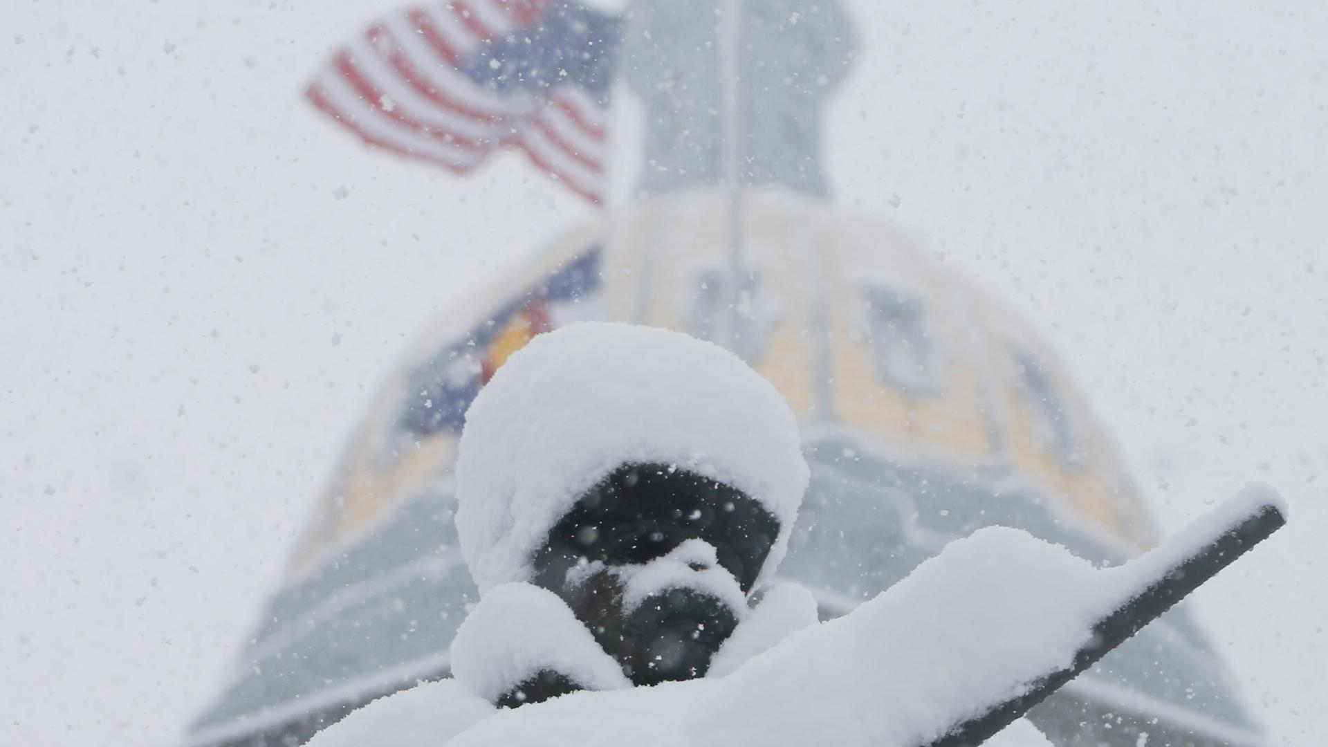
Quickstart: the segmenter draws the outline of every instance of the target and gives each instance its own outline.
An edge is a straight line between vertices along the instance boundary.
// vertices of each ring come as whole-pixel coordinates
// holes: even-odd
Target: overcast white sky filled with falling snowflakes
[[[178,734],[406,342],[591,215],[517,157],[458,181],[304,105],[393,4],[7,4],[0,744]],[[1197,606],[1276,743],[1324,740],[1328,5],[850,5],[845,209],[1033,319],[1166,528],[1286,492]]]

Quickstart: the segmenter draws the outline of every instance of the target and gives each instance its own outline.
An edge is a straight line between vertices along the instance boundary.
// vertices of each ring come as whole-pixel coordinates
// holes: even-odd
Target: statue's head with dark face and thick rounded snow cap
[[[481,594],[552,591],[652,685],[705,674],[784,556],[807,477],[788,404],[732,352],[574,324],[514,354],[466,413],[457,529]]]

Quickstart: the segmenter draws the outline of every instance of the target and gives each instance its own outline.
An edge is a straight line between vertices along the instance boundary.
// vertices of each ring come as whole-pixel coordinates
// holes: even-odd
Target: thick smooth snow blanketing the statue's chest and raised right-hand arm
[[[1097,578],[1062,548],[985,529],[728,677],[578,693],[503,711],[452,744],[912,747],[1066,666],[1092,635]]]

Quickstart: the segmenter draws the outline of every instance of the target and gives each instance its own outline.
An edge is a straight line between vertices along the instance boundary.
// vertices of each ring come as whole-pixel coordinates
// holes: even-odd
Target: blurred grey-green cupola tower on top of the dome
[[[726,29],[722,16],[733,8],[740,21]],[[838,0],[633,3],[620,69],[645,108],[640,191],[721,182],[725,142],[736,137],[737,183],[827,194],[821,118],[854,49]]]

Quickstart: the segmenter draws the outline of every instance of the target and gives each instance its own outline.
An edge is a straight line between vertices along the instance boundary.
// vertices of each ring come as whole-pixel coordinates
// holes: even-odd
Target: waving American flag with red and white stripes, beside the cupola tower
[[[305,93],[368,144],[458,174],[519,148],[599,203],[618,36],[574,0],[416,5],[340,47]]]

